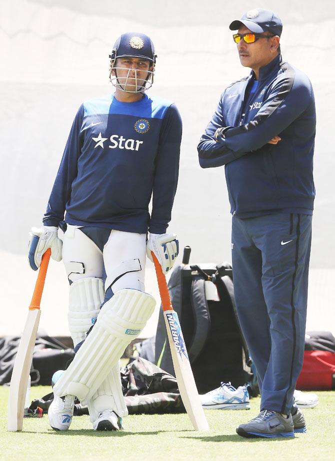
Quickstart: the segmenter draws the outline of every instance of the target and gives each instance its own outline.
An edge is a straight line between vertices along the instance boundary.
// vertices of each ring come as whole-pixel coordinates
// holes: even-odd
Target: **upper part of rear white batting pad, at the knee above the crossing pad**
[[[74,347],[86,338],[95,323],[103,298],[103,282],[99,278],[88,277],[71,283],[67,320]]]

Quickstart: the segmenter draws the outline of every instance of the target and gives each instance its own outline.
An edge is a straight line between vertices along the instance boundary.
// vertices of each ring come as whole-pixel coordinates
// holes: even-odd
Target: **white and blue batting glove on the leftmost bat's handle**
[[[36,271],[42,261],[42,256],[48,248],[51,248],[51,258],[61,261],[63,242],[58,238],[58,228],[43,226],[40,229],[32,227],[29,232],[28,263],[32,270]]]

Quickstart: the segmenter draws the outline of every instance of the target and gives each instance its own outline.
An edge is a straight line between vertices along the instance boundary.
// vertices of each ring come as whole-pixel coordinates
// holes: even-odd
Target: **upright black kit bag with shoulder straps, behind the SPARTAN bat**
[[[243,340],[233,295],[232,269],[223,263],[189,265],[190,248],[168,281],[199,394],[221,381],[234,387],[251,381],[248,351]],[[205,282],[214,283],[219,301],[206,299]],[[141,345],[145,349],[145,345]],[[160,310],[154,345],[154,363],[174,375],[165,322]]]

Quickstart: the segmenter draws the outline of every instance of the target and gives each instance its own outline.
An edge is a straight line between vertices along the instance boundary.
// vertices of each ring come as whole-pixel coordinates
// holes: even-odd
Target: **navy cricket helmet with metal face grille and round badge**
[[[117,69],[126,67],[116,66],[116,59],[119,57],[137,57],[145,59],[150,63],[150,70],[147,70],[145,79],[139,79],[138,72],[143,70],[128,69],[127,75],[120,77]],[[127,93],[142,93],[150,88],[153,83],[153,73],[157,55],[154,53],[154,46],[151,39],[139,32],[127,32],[118,37],[114,43],[110,58],[109,80],[118,89]],[[130,75],[131,72],[131,75]],[[133,74],[134,73],[134,74]]]

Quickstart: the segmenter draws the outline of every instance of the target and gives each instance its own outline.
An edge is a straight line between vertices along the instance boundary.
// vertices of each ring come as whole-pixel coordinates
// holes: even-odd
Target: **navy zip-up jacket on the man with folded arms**
[[[269,211],[312,214],[315,103],[311,83],[281,56],[260,68],[252,93],[254,82],[251,71],[222,93],[198,144],[200,166],[225,165],[231,213],[236,216]],[[219,127],[225,130],[215,141]],[[281,141],[268,144],[276,135]]]

